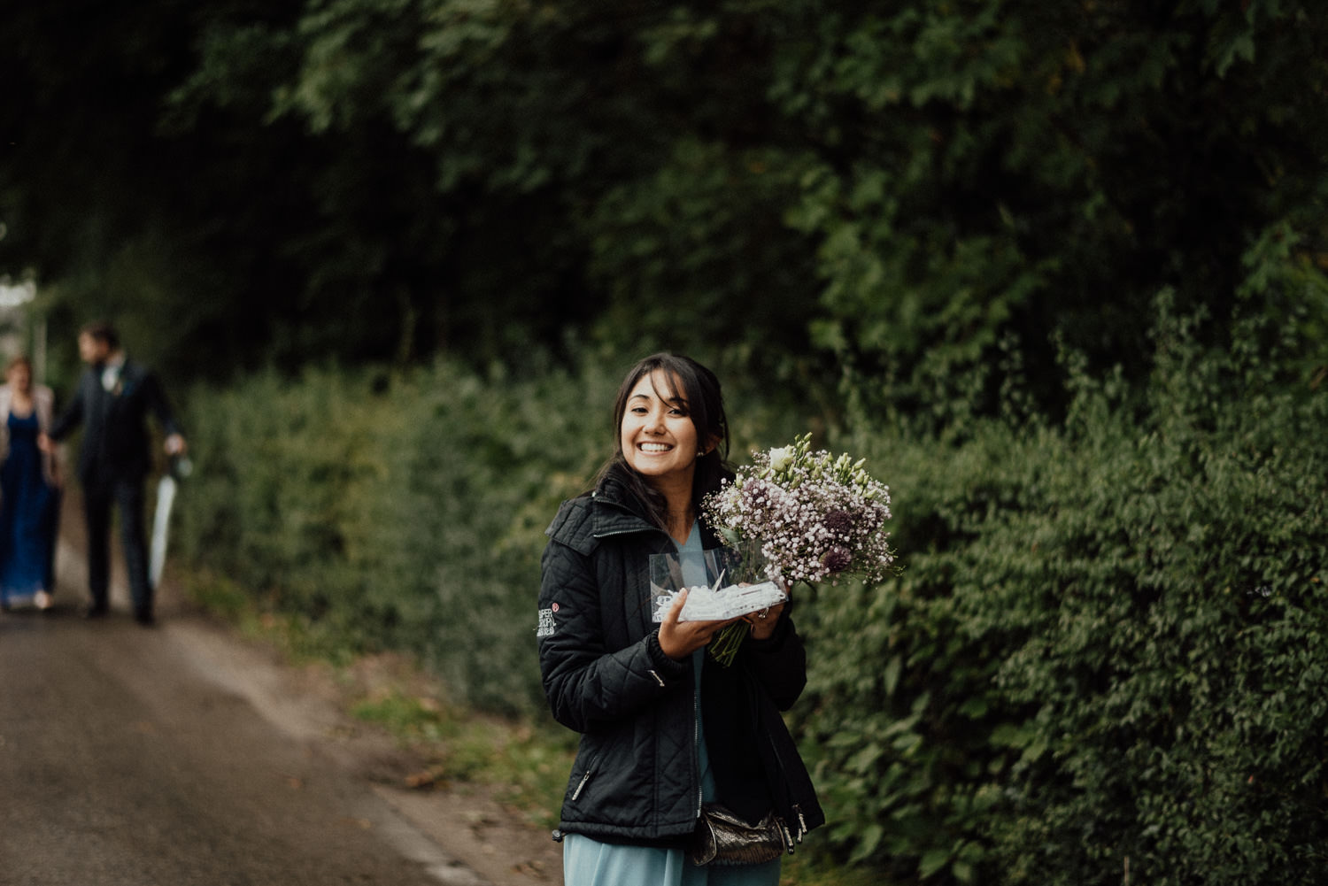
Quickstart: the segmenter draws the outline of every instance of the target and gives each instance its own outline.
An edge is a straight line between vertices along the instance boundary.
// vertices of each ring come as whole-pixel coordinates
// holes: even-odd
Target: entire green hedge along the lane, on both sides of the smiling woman
[[[1159,328],[1143,397],[1068,365],[1054,425],[831,437],[891,485],[903,571],[802,591],[813,855],[892,883],[1317,877],[1328,406],[1263,368],[1267,329],[1206,353]],[[542,530],[606,452],[620,372],[195,391],[186,554],[328,646],[406,650],[458,700],[542,711]],[[732,399],[737,453],[810,421],[754,383]]]

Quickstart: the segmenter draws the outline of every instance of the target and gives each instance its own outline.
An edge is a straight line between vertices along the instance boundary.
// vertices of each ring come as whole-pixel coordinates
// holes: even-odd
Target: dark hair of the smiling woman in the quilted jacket
[[[668,509],[664,497],[627,464],[622,437],[623,416],[627,414],[627,400],[632,396],[632,388],[643,377],[656,372],[668,384],[676,384],[680,388],[659,393],[665,400],[681,399],[687,401],[688,416],[692,418],[692,425],[696,426],[696,438],[709,449],[696,460],[692,505],[700,507],[701,499],[718,489],[720,481],[732,477],[733,472],[728,465],[729,420],[724,414],[724,395],[720,391],[718,377],[696,360],[676,353],[652,353],[637,361],[618,389],[618,400],[614,404],[614,457],[599,472],[595,482],[599,485],[600,480],[614,473],[645,505],[651,521],[665,526]],[[714,441],[713,446],[708,445],[710,441]]]

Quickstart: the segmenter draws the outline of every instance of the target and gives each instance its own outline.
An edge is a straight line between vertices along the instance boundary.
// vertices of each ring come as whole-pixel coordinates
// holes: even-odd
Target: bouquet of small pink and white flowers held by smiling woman
[[[790,446],[756,453],[701,510],[729,545],[758,551],[772,580],[879,582],[895,561],[884,529],[890,487],[862,465],[847,454],[811,452],[811,434],[802,434]],[[732,663],[745,627],[732,624],[712,642],[722,664]]]

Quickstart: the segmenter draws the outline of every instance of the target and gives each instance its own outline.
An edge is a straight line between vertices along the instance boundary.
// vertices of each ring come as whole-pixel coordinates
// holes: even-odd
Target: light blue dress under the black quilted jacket
[[[706,584],[701,533],[692,525],[687,543],[679,549],[683,582]],[[696,724],[701,740],[697,762],[701,770],[701,797],[714,800],[714,774],[705,752],[705,729],[701,723],[701,665],[705,650],[692,654],[696,675]],[[710,865],[697,867],[687,861],[681,849],[606,843],[584,834],[563,837],[563,882],[566,886],[778,886],[780,859],[764,865]]]

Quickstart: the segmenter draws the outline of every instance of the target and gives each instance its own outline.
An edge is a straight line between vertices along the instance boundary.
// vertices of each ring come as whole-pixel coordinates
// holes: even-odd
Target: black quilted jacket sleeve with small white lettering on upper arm
[[[591,557],[556,539],[542,558],[539,610],[544,695],[564,727],[594,732],[691,685],[691,663],[664,655],[655,632],[607,648]]]

